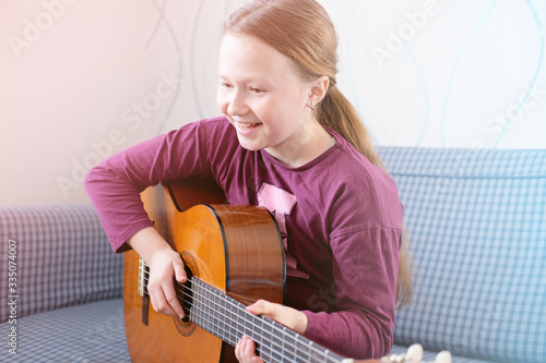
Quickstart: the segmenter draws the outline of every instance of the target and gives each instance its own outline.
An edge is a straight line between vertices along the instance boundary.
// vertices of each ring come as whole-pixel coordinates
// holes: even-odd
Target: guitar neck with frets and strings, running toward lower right
[[[352,362],[268,317],[250,314],[242,303],[197,277],[191,286],[190,320],[234,347],[244,335],[250,337],[265,362]]]

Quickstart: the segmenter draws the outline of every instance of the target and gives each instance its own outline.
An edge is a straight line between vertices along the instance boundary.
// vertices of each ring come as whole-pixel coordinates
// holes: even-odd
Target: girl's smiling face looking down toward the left
[[[217,105],[241,146],[264,148],[285,164],[300,159],[320,125],[308,107],[313,83],[302,80],[295,63],[261,39],[228,33],[218,73]]]

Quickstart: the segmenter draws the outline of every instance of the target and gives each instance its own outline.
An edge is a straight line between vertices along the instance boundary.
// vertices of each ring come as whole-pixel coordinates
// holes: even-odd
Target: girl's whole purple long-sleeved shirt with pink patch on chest
[[[103,161],[85,189],[116,252],[151,226],[139,193],[161,181],[212,177],[230,204],[266,207],[285,243],[285,304],[307,315],[305,336],[378,358],[393,339],[403,206],[394,181],[328,131],[334,146],[289,168],[242,148],[227,119],[203,120]]]

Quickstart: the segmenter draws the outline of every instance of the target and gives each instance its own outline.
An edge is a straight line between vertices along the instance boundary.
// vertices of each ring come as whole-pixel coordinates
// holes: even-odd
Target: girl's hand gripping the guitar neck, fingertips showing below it
[[[254,315],[264,315],[301,335],[307,330],[307,315],[293,307],[258,300],[252,305],[247,306],[247,311]],[[235,355],[240,363],[263,363],[256,355],[254,342],[247,336],[237,342]]]

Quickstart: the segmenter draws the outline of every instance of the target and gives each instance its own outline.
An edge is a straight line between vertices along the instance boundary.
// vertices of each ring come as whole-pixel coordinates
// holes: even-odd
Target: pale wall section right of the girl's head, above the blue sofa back
[[[377,143],[546,147],[546,1],[323,3]]]

